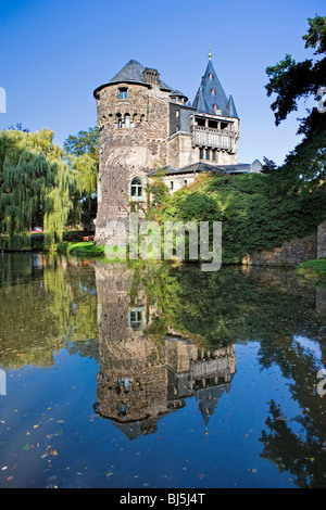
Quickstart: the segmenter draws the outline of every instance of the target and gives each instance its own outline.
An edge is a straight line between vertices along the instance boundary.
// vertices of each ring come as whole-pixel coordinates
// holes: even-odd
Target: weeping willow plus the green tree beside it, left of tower
[[[30,250],[30,232],[43,231],[43,247],[62,241],[64,229],[95,217],[98,153],[53,143],[49,129],[0,132],[0,248]]]

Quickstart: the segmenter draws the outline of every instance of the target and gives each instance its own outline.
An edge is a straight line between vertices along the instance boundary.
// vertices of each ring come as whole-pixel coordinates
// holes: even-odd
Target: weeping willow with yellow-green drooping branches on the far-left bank
[[[52,140],[49,129],[0,132],[1,248],[30,248],[33,227],[43,226],[47,245],[62,239],[78,178]]]

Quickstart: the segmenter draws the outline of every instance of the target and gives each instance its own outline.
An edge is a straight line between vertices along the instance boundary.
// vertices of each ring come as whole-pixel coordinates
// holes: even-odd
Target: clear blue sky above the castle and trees
[[[192,102],[211,48],[240,117],[239,163],[266,156],[281,164],[300,141],[304,105],[276,127],[265,69],[286,53],[297,62],[312,56],[302,36],[308,17],[325,8],[325,0],[1,0],[0,129],[48,127],[62,146],[96,126],[93,90],[130,59]]]

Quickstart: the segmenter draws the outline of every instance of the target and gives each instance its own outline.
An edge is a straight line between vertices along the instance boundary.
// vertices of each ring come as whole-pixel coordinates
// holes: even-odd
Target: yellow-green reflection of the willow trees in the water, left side
[[[34,254],[5,254],[0,266],[2,368],[50,366],[62,347],[93,354],[87,346],[97,337],[93,268]]]

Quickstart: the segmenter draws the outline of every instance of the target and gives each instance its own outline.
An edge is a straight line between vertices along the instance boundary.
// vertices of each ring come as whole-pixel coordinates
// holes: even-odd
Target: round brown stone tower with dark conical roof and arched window
[[[127,222],[147,206],[147,175],[167,162],[168,102],[172,88],[156,69],[130,60],[98,87],[100,168],[96,241],[108,241],[109,221]]]

